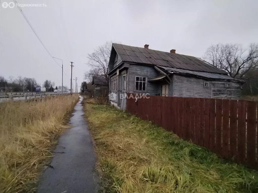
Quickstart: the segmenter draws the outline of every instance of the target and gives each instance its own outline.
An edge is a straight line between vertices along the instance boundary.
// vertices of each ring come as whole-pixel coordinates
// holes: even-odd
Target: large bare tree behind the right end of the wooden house
[[[231,77],[241,78],[258,67],[258,44],[253,43],[248,49],[236,44],[212,45],[206,50],[205,59]]]

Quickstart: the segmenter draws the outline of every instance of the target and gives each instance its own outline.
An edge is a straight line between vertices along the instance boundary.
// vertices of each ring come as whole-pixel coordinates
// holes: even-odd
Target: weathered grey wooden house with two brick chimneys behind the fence
[[[182,54],[113,43],[108,65],[110,103],[125,109],[120,94],[239,99],[242,81],[206,61]]]

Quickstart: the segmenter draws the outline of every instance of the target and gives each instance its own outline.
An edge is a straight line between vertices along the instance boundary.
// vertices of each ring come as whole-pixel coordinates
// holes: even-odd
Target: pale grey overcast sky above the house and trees
[[[17,0],[50,54],[63,59],[64,85],[83,81],[87,54],[106,41],[202,57],[216,43],[258,42],[258,1]],[[61,85],[61,67],[17,7],[0,8],[0,76],[48,79]],[[61,65],[61,61],[57,60]],[[75,84],[75,83],[74,83]]]

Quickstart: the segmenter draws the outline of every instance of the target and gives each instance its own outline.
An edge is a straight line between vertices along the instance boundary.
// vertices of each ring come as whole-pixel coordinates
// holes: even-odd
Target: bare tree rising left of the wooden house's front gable
[[[106,42],[104,45],[99,46],[97,49],[94,49],[94,52],[88,54],[88,65],[92,68],[98,70],[99,74],[103,75],[108,82],[108,62],[110,57],[110,52],[112,48],[112,41]]]

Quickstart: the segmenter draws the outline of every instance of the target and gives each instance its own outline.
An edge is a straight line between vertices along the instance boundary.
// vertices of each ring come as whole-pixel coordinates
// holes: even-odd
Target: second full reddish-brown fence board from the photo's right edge
[[[237,116],[237,161],[244,164],[246,160],[246,101],[238,101]]]

